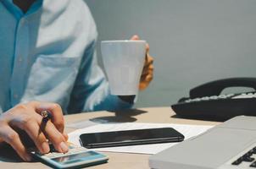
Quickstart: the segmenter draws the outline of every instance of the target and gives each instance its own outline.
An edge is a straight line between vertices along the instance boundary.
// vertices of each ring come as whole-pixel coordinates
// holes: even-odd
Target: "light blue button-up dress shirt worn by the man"
[[[37,0],[26,14],[0,0],[0,112],[28,101],[57,102],[66,113],[131,107],[109,94],[96,39],[82,0]]]

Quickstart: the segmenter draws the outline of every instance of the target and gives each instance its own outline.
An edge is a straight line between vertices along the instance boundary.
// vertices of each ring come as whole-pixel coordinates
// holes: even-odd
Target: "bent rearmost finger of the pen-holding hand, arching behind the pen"
[[[32,106],[37,113],[41,114],[42,111],[47,110],[52,113],[51,121],[58,128],[60,133],[64,132],[64,117],[61,106],[56,103],[49,103],[49,102],[37,102],[33,101]]]

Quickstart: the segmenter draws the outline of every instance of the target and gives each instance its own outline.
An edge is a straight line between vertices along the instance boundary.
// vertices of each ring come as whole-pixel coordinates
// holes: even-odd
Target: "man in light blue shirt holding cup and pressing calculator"
[[[0,142],[25,161],[31,157],[13,128],[25,130],[42,153],[49,151],[47,139],[66,152],[62,111],[132,106],[132,96],[109,94],[95,56],[96,25],[82,0],[0,0],[0,33]],[[146,61],[141,88],[153,78],[153,59]],[[38,133],[42,110],[53,119]]]

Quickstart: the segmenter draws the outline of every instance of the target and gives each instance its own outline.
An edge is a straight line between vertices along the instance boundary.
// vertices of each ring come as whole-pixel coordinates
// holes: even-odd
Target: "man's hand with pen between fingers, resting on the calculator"
[[[42,154],[50,151],[48,141],[59,152],[69,150],[66,144],[68,135],[64,133],[63,112],[58,104],[31,101],[14,106],[0,116],[0,143],[10,144],[24,161],[31,161],[19,130],[29,135]]]

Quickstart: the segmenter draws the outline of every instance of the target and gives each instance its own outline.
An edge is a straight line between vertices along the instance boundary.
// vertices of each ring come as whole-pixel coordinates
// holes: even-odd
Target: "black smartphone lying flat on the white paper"
[[[174,128],[147,128],[114,132],[81,134],[81,145],[87,149],[136,144],[180,142],[184,135]]]

